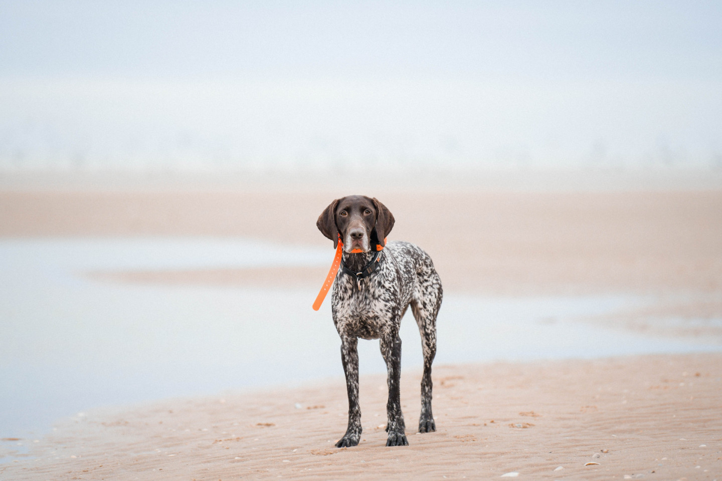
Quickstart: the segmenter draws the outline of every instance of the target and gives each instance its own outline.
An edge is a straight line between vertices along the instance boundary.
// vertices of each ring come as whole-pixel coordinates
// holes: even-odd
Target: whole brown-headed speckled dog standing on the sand
[[[334,325],[341,337],[341,361],[349,397],[349,423],[336,447],[356,446],[361,437],[358,338],[378,339],[388,371],[386,446],[408,446],[401,413],[401,337],[399,327],[411,306],[424,353],[419,432],[436,431],[431,411],[431,363],[436,354],[436,316],[441,280],[431,257],[409,242],[388,242],[393,215],[376,198],[350,195],[336,199],[318,216],[316,226],[343,244],[342,270],[331,294]]]

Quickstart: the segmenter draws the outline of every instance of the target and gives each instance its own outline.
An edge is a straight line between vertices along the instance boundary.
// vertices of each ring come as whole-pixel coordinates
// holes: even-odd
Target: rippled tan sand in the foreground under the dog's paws
[[[0,475],[712,480],[722,469],[721,376],[719,353],[435,366],[438,431],[414,435],[420,371],[408,370],[403,448],[383,446],[383,375],[362,376],[364,433],[349,449],[332,447],[346,423],[342,379],[160,400],[67,418],[32,444],[35,459],[0,465]]]

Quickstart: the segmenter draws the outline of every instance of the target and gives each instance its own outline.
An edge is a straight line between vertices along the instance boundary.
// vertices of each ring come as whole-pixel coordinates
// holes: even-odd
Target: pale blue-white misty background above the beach
[[[0,172],[721,169],[715,1],[0,1]]]

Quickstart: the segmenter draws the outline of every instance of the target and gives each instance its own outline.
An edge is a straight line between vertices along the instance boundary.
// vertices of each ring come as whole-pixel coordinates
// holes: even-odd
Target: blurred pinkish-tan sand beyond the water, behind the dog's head
[[[5,192],[0,236],[240,236],[329,246],[330,265],[333,250],[316,219],[341,195],[334,190]],[[722,190],[373,195],[396,216],[391,239],[427,250],[445,288],[453,291],[722,292]],[[274,282],[321,283],[323,270]],[[165,280],[162,273],[139,276],[193,278],[175,274]],[[256,283],[269,276],[206,271],[199,277]]]

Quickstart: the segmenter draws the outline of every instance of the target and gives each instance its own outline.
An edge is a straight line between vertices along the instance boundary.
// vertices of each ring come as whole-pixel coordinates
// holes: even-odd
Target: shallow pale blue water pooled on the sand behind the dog
[[[329,300],[318,286],[271,291],[95,281],[91,270],[328,265],[333,252],[245,239],[20,239],[0,242],[0,438],[38,438],[57,418],[121,405],[342,376]],[[721,350],[578,322],[648,303],[635,296],[448,293],[435,363]],[[422,363],[414,319],[403,364]],[[360,341],[362,374],[385,372]]]

